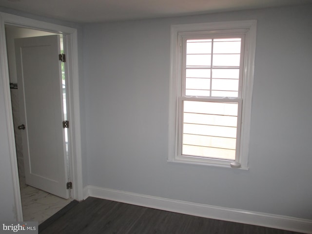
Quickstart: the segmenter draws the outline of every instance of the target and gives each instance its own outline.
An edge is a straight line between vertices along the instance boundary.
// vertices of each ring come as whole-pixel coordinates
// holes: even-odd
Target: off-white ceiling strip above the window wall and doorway
[[[257,9],[312,0],[0,0],[0,6],[73,22],[108,22]]]

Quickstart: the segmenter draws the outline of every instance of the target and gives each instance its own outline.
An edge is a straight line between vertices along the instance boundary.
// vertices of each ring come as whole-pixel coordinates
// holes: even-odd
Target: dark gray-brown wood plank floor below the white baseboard
[[[39,225],[39,234],[298,234],[88,197]]]

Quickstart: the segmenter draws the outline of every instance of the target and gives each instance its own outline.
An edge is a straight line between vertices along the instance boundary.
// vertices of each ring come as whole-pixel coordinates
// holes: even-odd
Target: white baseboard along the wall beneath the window
[[[96,186],[86,186],[83,190],[83,195],[84,198],[92,196],[186,215],[195,215],[312,234],[312,220],[310,219],[210,206],[206,204],[105,189]]]

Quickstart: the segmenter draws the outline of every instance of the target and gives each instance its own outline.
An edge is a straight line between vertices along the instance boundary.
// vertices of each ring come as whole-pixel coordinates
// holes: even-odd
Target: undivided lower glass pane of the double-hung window
[[[237,102],[183,101],[182,154],[235,159]]]

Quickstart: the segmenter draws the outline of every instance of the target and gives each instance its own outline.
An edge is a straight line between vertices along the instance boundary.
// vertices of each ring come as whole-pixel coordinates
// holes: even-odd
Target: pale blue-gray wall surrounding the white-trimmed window
[[[85,184],[312,219],[311,12],[85,24]],[[167,162],[170,25],[254,19],[250,170]]]

